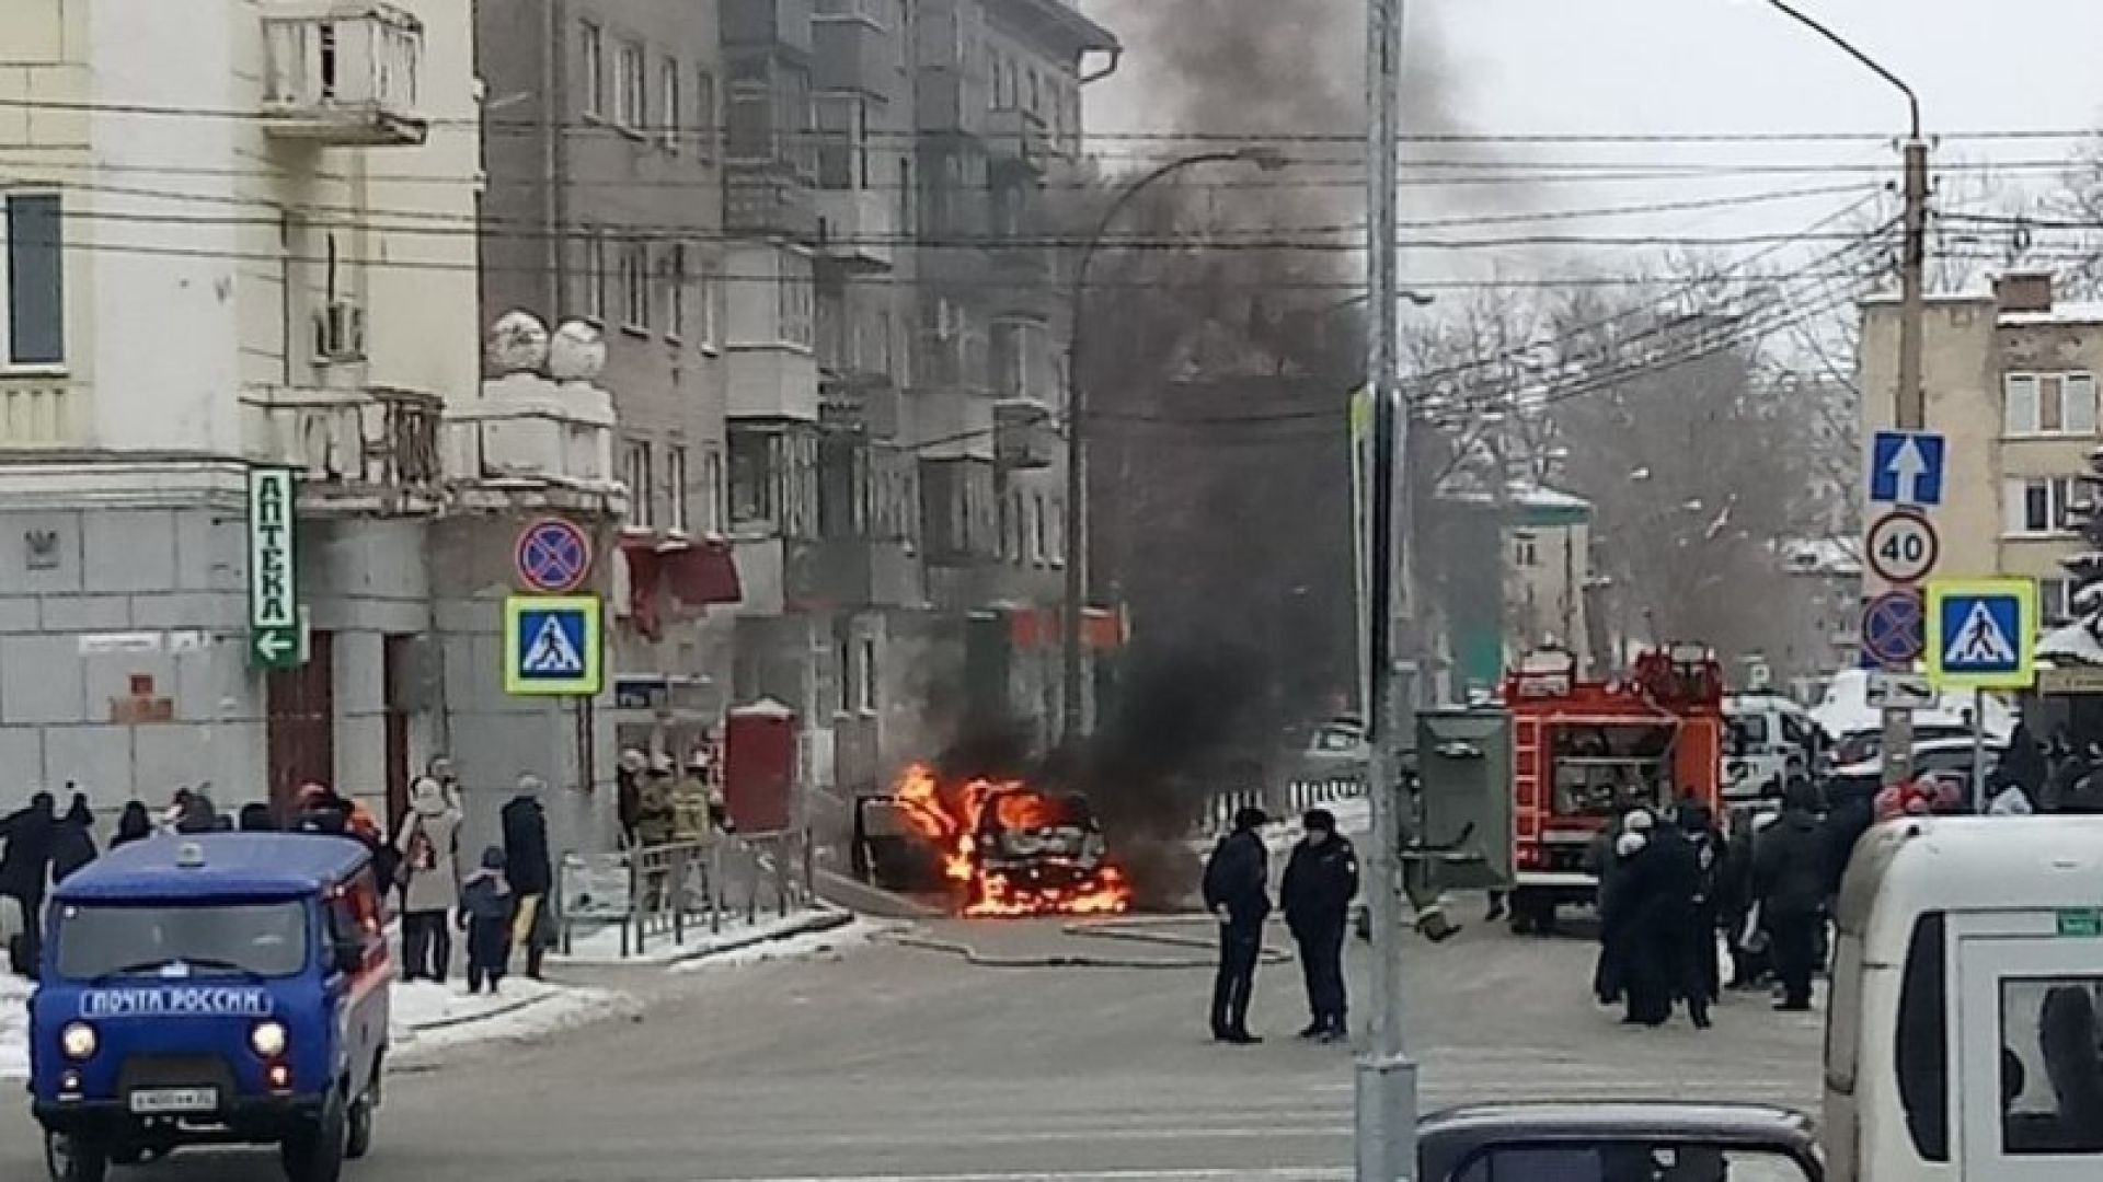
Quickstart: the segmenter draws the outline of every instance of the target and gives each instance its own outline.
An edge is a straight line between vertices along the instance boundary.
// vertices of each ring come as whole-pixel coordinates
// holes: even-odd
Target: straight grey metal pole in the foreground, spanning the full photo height
[[[1403,1031],[1401,751],[1394,694],[1396,456],[1407,454],[1409,414],[1396,381],[1401,282],[1396,193],[1401,151],[1403,0],[1367,0],[1365,40],[1365,278],[1369,299],[1365,383],[1373,414],[1367,541],[1367,789],[1373,801],[1373,1037],[1356,1064],[1359,1182],[1396,1182],[1417,1171],[1417,1066]],[[1407,543],[1405,543],[1407,545]],[[1413,555],[1405,555],[1413,557]]]

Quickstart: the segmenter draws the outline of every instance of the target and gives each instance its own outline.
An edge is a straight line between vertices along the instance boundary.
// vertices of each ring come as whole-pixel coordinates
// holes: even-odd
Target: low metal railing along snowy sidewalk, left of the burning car
[[[599,862],[564,858],[562,951],[576,936],[618,925],[620,955],[681,946],[688,934],[719,934],[726,923],[757,923],[810,906],[814,845],[805,831],[738,833],[715,841],[673,841],[610,854]]]

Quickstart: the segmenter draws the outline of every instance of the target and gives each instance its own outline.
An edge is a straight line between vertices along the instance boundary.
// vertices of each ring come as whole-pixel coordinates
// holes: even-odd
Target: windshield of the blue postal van
[[[59,976],[292,976],[307,963],[307,909],[297,902],[84,906],[59,911]]]

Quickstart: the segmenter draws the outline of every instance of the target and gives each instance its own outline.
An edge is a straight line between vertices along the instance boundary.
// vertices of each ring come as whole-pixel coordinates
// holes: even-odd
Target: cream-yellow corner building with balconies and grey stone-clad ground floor
[[[601,412],[543,412],[576,463],[534,458],[538,427],[477,398],[469,11],[8,6],[4,791],[233,806],[311,778],[397,806],[452,745],[503,753],[471,789],[566,778],[562,728],[505,707],[501,576],[475,572],[511,530],[486,515],[620,494]],[[297,595],[290,654],[246,627],[275,549],[254,467],[297,475],[294,587],[259,583]]]

